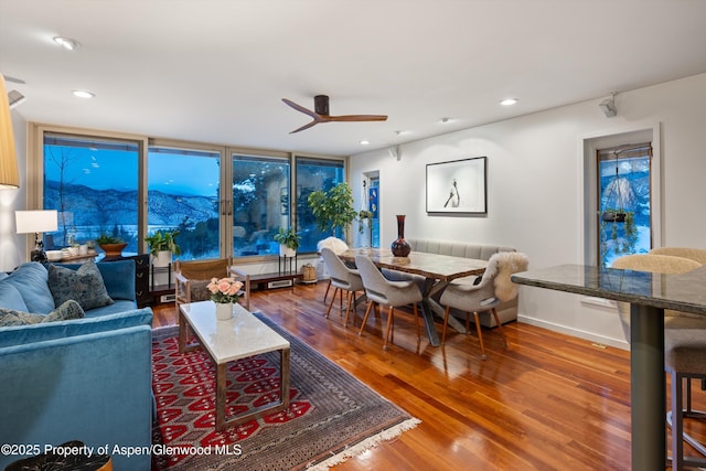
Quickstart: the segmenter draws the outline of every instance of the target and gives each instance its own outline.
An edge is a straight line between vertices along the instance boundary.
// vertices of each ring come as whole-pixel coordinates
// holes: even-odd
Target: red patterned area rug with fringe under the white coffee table
[[[158,424],[153,471],[325,470],[419,424],[296,336],[257,315],[291,345],[290,407],[215,431],[215,365],[201,350],[179,353],[176,328],[154,330],[152,388]],[[228,366],[228,415],[278,400],[278,352]]]

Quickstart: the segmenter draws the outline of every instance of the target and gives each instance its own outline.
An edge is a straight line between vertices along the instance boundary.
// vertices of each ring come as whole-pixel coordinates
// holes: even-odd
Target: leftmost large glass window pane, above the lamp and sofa
[[[137,254],[140,142],[45,132],[43,207],[58,212],[46,248],[120,237]]]

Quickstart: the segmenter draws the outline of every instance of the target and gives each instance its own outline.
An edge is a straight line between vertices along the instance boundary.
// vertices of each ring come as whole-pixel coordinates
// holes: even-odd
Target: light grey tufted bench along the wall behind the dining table
[[[428,254],[451,255],[453,257],[467,257],[488,260],[494,254],[500,251],[516,251],[513,247],[504,247],[500,245],[467,244],[459,242],[447,242],[436,239],[406,239],[413,251],[425,251]],[[399,272],[392,274],[385,271],[385,276],[398,277]],[[404,274],[403,274],[404,275]],[[517,319],[517,299],[509,302],[502,302],[498,306],[498,315],[500,322],[507,323]],[[462,315],[461,315],[462,318]],[[494,328],[495,320],[489,312],[480,314],[481,324],[488,328]]]

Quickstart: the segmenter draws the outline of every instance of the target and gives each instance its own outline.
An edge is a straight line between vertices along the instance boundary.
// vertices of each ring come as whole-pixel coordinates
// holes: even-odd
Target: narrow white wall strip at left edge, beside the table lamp
[[[26,208],[26,122],[11,110],[14,147],[20,170],[19,190],[0,190],[0,270],[8,271],[29,258],[26,235],[18,235],[14,227],[14,211]]]

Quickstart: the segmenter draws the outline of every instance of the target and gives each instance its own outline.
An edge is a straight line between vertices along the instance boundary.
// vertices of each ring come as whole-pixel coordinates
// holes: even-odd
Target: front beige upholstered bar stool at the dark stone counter
[[[612,264],[613,268],[659,274],[683,274],[700,266],[693,259],[653,254],[627,255]],[[618,312],[625,339],[630,342],[630,304],[618,302]],[[676,437],[682,437],[706,456],[706,447],[684,432],[684,418],[706,419],[706,413],[692,408],[692,379],[706,379],[706,318],[672,310],[665,310],[664,315],[664,366],[671,376],[672,409],[666,415],[666,422],[672,428],[672,469],[704,467],[706,460],[684,457],[684,442]]]

